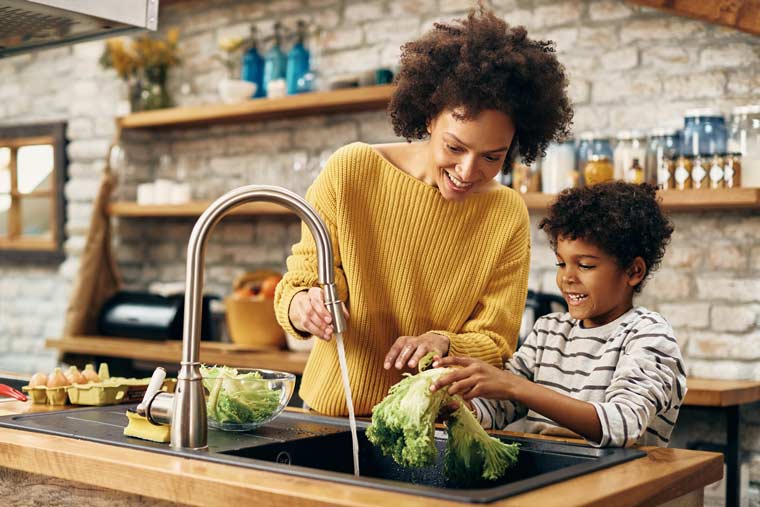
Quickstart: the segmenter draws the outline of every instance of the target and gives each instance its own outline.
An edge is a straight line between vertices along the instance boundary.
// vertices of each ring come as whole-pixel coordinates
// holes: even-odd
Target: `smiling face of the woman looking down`
[[[515,135],[512,119],[485,110],[471,120],[446,110],[430,122],[430,177],[441,195],[459,201],[499,174]]]

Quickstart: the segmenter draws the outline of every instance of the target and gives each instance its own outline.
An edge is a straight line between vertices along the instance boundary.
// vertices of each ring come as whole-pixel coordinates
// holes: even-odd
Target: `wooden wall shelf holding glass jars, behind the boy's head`
[[[660,190],[662,205],[671,211],[760,208],[760,188],[722,188],[716,190]],[[555,194],[528,193],[523,199],[531,211],[544,211]]]

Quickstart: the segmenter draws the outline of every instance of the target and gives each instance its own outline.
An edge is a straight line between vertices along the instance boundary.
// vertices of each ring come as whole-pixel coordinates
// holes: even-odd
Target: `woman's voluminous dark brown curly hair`
[[[435,23],[401,49],[388,106],[396,135],[424,139],[446,109],[461,107],[464,119],[502,111],[515,125],[505,172],[518,152],[530,163],[550,141],[569,136],[573,109],[552,41],[529,39],[524,27],[510,27],[481,5],[467,19]]]

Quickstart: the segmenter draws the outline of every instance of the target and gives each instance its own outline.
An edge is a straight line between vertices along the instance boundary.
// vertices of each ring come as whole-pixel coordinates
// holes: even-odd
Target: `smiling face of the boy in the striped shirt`
[[[640,258],[622,269],[614,257],[582,239],[557,239],[557,287],[570,315],[587,328],[597,327],[623,315],[633,306],[633,288],[645,269]],[[643,263],[643,261],[640,261]]]

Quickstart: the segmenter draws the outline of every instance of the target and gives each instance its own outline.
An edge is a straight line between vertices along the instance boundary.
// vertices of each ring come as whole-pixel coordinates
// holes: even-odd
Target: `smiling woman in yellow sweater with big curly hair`
[[[568,133],[564,70],[551,43],[490,11],[436,24],[404,45],[389,105],[414,143],[338,150],[306,194],[333,240],[346,303],[344,341],[355,410],[368,415],[429,351],[501,365],[514,352],[527,292],[529,220],[494,178]],[[275,296],[293,336],[317,336],[300,395],[347,413],[330,315],[316,287],[308,229]],[[349,311],[350,309],[350,311]]]

